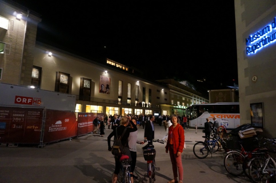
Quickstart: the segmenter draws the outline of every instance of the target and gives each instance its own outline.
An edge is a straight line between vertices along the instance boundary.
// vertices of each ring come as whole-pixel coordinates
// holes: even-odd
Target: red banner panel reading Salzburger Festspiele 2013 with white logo
[[[77,136],[75,112],[46,110],[43,144]]]

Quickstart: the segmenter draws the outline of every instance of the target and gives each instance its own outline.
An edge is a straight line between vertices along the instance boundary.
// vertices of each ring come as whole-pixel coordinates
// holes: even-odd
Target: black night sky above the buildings
[[[154,79],[237,83],[233,0],[15,2],[41,14],[37,41]]]

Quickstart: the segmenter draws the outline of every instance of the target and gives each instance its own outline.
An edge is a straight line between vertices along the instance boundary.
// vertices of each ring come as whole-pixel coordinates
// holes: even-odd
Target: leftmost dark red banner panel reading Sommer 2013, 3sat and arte
[[[39,144],[43,109],[0,107],[1,143]]]

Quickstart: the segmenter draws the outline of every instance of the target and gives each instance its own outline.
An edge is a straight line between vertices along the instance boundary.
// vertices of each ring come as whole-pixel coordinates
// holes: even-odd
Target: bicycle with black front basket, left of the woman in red
[[[143,154],[144,154],[144,159],[145,161],[147,161],[147,173],[144,174],[144,177],[149,178],[149,183],[154,183],[154,181],[156,180],[155,178],[155,170],[159,171],[160,168],[156,167],[155,164],[155,155],[156,155],[156,150],[154,149],[153,146],[153,142],[159,142],[161,144],[164,144],[164,142],[159,141],[159,139],[157,140],[144,140],[144,142],[148,142],[147,144],[147,149],[144,150]]]

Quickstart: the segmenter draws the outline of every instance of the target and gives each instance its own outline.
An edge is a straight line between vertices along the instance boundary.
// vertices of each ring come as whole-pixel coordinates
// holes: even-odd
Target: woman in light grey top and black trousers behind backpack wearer
[[[137,126],[137,121],[135,118],[131,118],[131,121]],[[133,128],[132,125],[130,125],[131,128]],[[131,154],[131,164],[130,164],[130,168],[131,168],[131,173],[132,173],[132,177],[138,179],[139,177],[137,175],[134,175],[134,170],[135,170],[135,166],[136,166],[136,159],[137,159],[137,148],[136,148],[136,144],[144,144],[143,140],[138,140],[137,139],[138,136],[138,130],[136,130],[135,132],[130,132],[129,133],[129,137],[128,137],[128,145],[129,145],[129,150],[130,150],[130,154]]]

